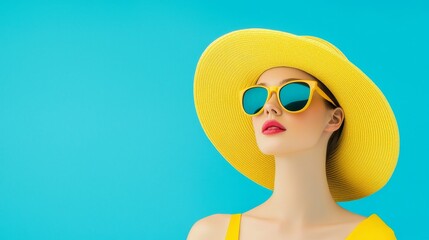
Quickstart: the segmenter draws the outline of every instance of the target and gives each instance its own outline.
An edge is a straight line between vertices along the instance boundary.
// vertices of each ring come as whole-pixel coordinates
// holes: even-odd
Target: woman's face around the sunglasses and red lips
[[[304,71],[288,67],[276,67],[265,71],[258,79],[257,84],[279,86],[284,79],[315,79]],[[289,80],[289,81],[290,81]],[[329,111],[324,99],[315,91],[309,107],[300,113],[286,112],[273,93],[265,103],[263,112],[252,117],[253,128],[259,149],[267,155],[288,155],[312,148],[317,144],[330,120]],[[286,130],[276,134],[264,134],[262,126],[267,120],[276,120]],[[327,138],[329,138],[327,136]]]

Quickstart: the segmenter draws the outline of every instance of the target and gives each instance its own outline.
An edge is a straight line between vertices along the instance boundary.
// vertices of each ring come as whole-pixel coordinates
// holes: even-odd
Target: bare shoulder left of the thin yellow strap
[[[213,214],[196,221],[187,240],[223,240],[226,236],[231,214]]]

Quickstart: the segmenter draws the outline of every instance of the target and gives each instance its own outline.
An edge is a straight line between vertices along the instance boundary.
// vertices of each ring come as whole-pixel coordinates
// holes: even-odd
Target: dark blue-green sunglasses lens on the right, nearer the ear
[[[305,107],[310,97],[310,86],[307,83],[289,83],[280,89],[280,101],[289,111],[299,111]]]

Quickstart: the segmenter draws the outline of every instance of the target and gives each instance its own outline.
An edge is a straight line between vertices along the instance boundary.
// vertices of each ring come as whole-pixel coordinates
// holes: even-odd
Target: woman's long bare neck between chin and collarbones
[[[272,217],[296,224],[311,224],[339,211],[340,207],[329,191],[325,166],[324,144],[287,156],[276,156],[273,194],[264,203]]]

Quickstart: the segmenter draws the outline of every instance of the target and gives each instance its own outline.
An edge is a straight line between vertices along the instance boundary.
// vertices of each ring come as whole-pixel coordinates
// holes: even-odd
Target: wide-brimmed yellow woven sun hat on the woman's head
[[[251,118],[241,109],[240,90],[278,66],[303,70],[333,93],[344,110],[339,145],[327,161],[335,201],[363,198],[390,179],[399,156],[399,129],[380,89],[326,40],[270,29],[241,29],[213,41],[194,76],[199,121],[220,154],[240,173],[273,190],[274,156],[263,154]]]

